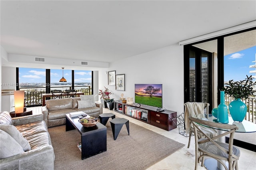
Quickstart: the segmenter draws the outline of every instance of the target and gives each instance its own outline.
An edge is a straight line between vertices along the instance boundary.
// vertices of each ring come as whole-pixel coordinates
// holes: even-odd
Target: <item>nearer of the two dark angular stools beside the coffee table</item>
[[[124,119],[124,118],[115,118],[112,119],[110,121],[110,125],[112,128],[112,133],[114,136],[114,140],[116,140],[120,130],[122,129],[123,125],[126,125],[127,131],[128,131],[128,135],[130,135],[130,131],[129,131],[129,120]]]

